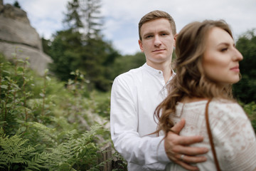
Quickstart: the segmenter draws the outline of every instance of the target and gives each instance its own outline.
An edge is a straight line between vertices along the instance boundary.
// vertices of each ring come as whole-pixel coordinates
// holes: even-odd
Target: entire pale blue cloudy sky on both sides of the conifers
[[[15,0],[4,0],[14,4]],[[26,11],[31,26],[39,35],[51,38],[63,29],[63,18],[70,0],[18,0]],[[174,18],[177,32],[193,21],[224,19],[231,27],[235,40],[256,28],[255,0],[101,0],[104,16],[102,34],[122,55],[139,50],[138,23],[153,10],[166,11]]]

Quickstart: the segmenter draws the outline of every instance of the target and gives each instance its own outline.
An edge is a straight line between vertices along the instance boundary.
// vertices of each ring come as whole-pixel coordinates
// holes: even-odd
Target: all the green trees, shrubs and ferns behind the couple
[[[100,7],[100,0],[68,2],[65,29],[42,38],[53,59],[45,76],[16,52],[11,62],[0,56],[0,170],[126,170],[122,157],[105,148],[112,146],[110,88],[145,57],[123,56],[105,40]],[[244,59],[233,93],[256,130],[255,29],[240,35],[236,47]]]

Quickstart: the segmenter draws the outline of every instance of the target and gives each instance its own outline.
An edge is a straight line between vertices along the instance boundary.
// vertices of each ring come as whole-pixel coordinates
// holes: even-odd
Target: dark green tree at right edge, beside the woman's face
[[[242,79],[234,85],[234,95],[244,103],[256,101],[256,35],[255,29],[238,38],[236,47],[242,53],[240,72]]]

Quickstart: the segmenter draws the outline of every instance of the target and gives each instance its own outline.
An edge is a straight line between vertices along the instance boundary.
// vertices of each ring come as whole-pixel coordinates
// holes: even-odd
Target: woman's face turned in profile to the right
[[[230,34],[222,28],[214,27],[206,38],[206,51],[203,53],[203,70],[206,77],[218,84],[239,81],[239,61],[242,54],[235,48]]]

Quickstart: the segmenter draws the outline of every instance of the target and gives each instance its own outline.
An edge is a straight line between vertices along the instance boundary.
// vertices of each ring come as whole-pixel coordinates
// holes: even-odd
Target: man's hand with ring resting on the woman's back
[[[174,132],[169,132],[164,139],[164,148],[169,159],[176,164],[181,165],[187,170],[198,170],[198,167],[191,166],[189,163],[205,162],[207,160],[203,155],[208,152],[206,147],[188,147],[196,142],[202,142],[202,136],[191,136],[182,137],[178,135],[185,125],[185,120],[181,119],[179,123],[174,125],[171,130]]]

